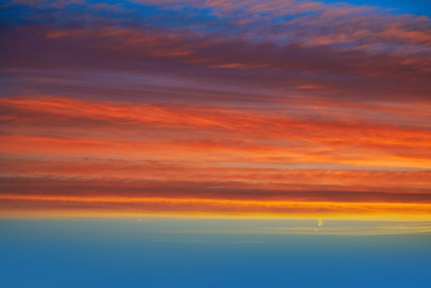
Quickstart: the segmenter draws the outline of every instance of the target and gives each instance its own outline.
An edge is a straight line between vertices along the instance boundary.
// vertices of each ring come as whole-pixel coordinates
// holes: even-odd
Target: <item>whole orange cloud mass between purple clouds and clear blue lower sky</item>
[[[428,217],[425,127],[339,110],[360,114],[366,105],[308,105],[319,109],[0,99],[3,216],[109,214],[115,206],[122,213]],[[427,116],[414,105],[388,113],[415,111]]]

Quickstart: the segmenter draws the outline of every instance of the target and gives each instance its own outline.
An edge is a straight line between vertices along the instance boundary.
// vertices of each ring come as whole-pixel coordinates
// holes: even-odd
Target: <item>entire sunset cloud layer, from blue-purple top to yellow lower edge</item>
[[[0,216],[430,220],[422,5],[3,2]]]

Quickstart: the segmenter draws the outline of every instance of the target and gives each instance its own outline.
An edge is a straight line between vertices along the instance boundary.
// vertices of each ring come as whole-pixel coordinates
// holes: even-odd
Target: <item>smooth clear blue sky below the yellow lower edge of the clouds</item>
[[[218,232],[233,232],[233,227],[309,227],[313,222],[2,220],[0,285],[427,287],[430,233],[304,236],[244,234],[238,229],[238,233]]]

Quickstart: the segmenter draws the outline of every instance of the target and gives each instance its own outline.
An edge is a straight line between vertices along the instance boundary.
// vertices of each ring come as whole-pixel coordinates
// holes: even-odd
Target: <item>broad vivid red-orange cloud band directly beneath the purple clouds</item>
[[[0,150],[7,153],[431,167],[431,133],[425,127],[58,97],[0,103],[17,109],[3,116],[9,132],[0,136]]]

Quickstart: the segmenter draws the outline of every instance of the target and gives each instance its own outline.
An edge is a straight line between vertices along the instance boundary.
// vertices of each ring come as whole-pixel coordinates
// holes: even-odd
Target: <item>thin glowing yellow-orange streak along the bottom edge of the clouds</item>
[[[256,200],[218,200],[199,198],[125,198],[125,197],[76,197],[76,196],[1,196],[1,200],[17,200],[21,205],[30,203],[34,207],[24,209],[37,212],[41,203],[48,207],[39,211],[62,210],[81,212],[90,209],[90,214],[154,214],[154,215],[207,215],[207,216],[264,216],[292,218],[343,218],[343,219],[391,219],[391,220],[431,220],[431,204],[408,203],[332,203],[298,201],[256,201]],[[38,204],[39,203],[39,204]],[[81,208],[67,207],[81,204]],[[120,204],[118,209],[116,204]],[[64,206],[66,205],[66,206]],[[30,205],[31,206],[31,205]],[[13,209],[19,211],[19,209]],[[1,214],[8,218],[8,211]]]

